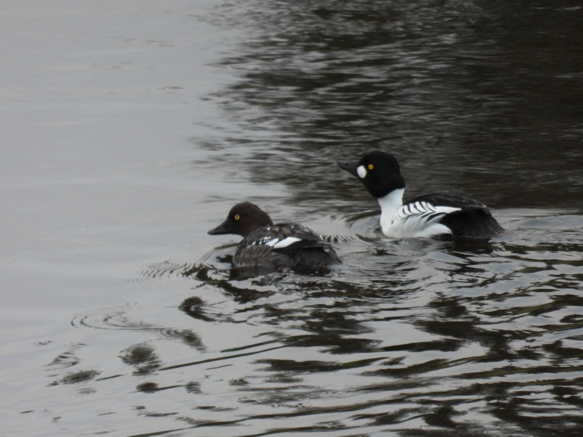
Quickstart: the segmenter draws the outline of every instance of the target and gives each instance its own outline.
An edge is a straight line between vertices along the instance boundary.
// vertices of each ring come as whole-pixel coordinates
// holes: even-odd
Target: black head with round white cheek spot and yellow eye
[[[355,163],[338,161],[338,167],[356,176],[375,198],[382,198],[394,189],[405,188],[399,163],[384,151],[371,151]]]

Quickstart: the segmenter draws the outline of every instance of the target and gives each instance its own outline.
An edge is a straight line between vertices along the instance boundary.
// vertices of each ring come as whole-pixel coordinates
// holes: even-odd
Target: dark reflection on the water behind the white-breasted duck
[[[583,188],[583,12],[561,3],[235,5],[225,24],[252,37],[224,60],[241,81],[220,98],[245,130],[226,147],[245,151],[251,181],[312,208],[359,198],[331,163],[378,148],[412,195],[569,207]]]

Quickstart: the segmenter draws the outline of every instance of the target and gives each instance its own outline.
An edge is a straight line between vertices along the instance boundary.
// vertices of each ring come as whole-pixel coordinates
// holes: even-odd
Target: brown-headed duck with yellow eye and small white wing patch
[[[314,270],[340,262],[332,246],[316,232],[301,224],[273,224],[268,214],[250,202],[237,203],[227,219],[208,233],[244,237],[233,257],[236,267]]]

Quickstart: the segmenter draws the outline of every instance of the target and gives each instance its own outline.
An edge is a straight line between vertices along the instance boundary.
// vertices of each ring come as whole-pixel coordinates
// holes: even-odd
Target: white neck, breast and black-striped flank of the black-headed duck
[[[427,202],[402,205],[404,189],[396,189],[384,198],[379,198],[381,206],[381,228],[387,237],[433,237],[451,234],[451,230],[437,223],[446,214],[459,211],[452,206],[434,206]]]

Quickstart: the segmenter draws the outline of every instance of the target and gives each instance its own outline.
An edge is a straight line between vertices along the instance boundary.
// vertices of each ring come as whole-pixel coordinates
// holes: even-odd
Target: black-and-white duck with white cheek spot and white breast
[[[360,161],[338,161],[356,176],[381,206],[381,228],[387,237],[453,237],[489,239],[503,231],[490,210],[477,200],[434,193],[403,204],[405,179],[394,156],[375,150]]]

